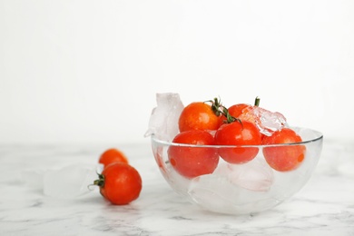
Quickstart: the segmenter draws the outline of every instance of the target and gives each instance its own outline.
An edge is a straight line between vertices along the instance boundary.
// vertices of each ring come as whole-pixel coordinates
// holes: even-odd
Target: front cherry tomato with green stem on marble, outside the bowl
[[[114,205],[133,202],[142,191],[142,178],[139,172],[124,162],[107,165],[93,184],[100,186],[103,197]]]

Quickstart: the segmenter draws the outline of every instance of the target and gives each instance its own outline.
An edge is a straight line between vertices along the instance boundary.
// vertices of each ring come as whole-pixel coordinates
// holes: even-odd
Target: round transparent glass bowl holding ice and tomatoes
[[[197,146],[169,143],[158,140],[152,134],[152,152],[164,179],[172,189],[190,202],[207,211],[230,214],[247,214],[269,210],[289,199],[309,181],[320,159],[323,135],[306,128],[292,127],[300,134],[301,143],[257,145],[257,146]],[[302,145],[306,147],[305,157],[295,170],[279,172],[266,162],[263,151]],[[194,178],[187,178],[176,172],[169,161],[171,146],[181,148],[209,148],[259,150],[250,162],[232,164],[219,159],[215,171]]]

